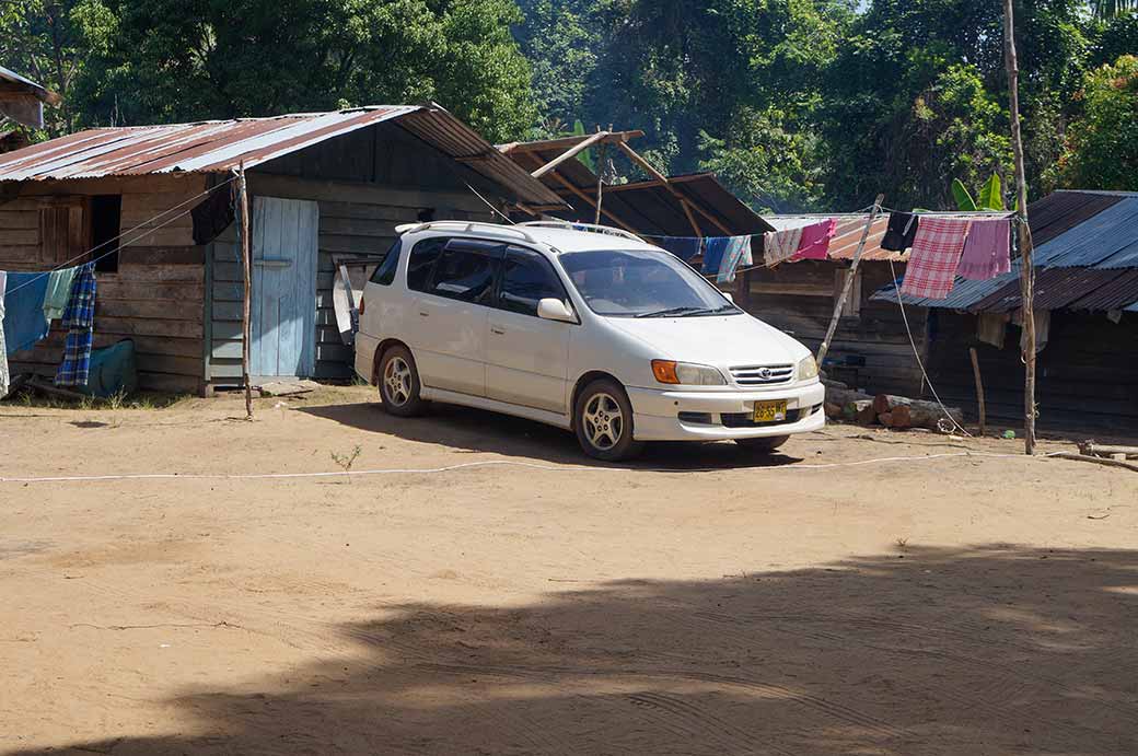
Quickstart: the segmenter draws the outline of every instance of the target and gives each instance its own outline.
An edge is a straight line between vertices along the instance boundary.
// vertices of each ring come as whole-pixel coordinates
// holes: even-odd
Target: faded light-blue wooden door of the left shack
[[[316,363],[316,203],[253,202],[254,376],[311,376]]]

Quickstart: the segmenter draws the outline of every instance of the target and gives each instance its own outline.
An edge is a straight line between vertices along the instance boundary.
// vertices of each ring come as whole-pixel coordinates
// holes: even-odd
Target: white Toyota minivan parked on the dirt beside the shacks
[[[438,401],[577,434],[597,459],[646,441],[758,452],[825,425],[810,351],[675,255],[605,227],[399,227],[364,288],[355,369],[398,417]]]

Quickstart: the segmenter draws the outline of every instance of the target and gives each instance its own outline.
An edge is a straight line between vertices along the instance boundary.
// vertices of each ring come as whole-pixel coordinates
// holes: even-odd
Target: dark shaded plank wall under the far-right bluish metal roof
[[[1003,348],[976,338],[976,315],[935,311],[930,323],[929,372],[945,402],[976,417],[968,347],[976,347],[990,421],[1023,427],[1023,363],[1019,326]],[[1038,427],[1138,437],[1138,313],[1118,323],[1105,313],[1052,313],[1037,364]]]

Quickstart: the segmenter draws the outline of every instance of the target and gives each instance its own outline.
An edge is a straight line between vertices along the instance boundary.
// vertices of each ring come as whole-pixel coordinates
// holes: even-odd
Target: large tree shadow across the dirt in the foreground
[[[72,747],[1132,754],[1136,583],[1135,551],[997,544],[709,582],[551,583],[509,608],[384,607],[307,667],[182,691],[183,734]]]

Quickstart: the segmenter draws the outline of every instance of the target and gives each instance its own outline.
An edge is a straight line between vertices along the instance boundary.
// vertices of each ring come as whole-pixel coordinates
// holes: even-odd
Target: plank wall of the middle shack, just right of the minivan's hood
[[[897,263],[897,274],[905,265]],[[754,317],[787,331],[817,352],[834,310],[838,276],[848,265],[834,262],[803,261],[774,270],[756,269],[749,273],[750,291],[736,297]],[[747,276],[747,273],[744,273]],[[859,266],[860,297],[847,306],[839,321],[830,356],[864,358],[864,368],[832,371],[847,383],[869,392],[917,396],[922,389],[921,369],[906,335],[896,303],[869,302],[882,286],[893,280],[888,262],[863,262]],[[853,291],[858,289],[855,287]],[[851,296],[853,294],[851,293]],[[852,314],[852,313],[857,314]],[[907,307],[906,314],[918,350],[924,350],[925,318],[922,307]]]

